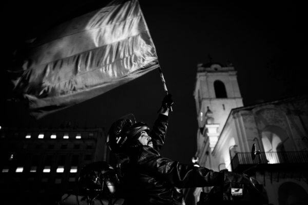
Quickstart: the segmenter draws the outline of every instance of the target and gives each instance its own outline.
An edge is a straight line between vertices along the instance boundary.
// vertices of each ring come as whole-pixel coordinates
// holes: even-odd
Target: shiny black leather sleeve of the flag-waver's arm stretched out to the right
[[[178,188],[212,187],[223,183],[223,173],[161,157],[155,150],[148,151],[139,164],[141,168]]]

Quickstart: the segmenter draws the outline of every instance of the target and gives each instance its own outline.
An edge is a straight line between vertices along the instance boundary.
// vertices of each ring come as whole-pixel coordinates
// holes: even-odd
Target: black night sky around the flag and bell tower
[[[104,127],[107,132],[115,119],[128,113],[153,124],[164,97],[158,71],[40,120],[30,117],[20,104],[5,100],[10,94],[5,70],[13,50],[54,25],[99,9],[103,2],[2,3],[0,126],[56,128],[70,121],[79,127]],[[302,5],[148,0],[140,5],[175,101],[163,156],[190,163],[196,152],[193,93],[197,64],[207,63],[208,55],[222,65],[233,63],[244,106],[307,93]]]

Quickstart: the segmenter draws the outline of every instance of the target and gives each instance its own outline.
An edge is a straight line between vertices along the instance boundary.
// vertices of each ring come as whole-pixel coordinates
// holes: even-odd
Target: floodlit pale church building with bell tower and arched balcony
[[[198,65],[194,95],[199,123],[196,163],[253,176],[264,185],[270,204],[308,200],[306,95],[243,107],[236,71],[219,64]],[[253,144],[260,150],[254,160]],[[187,190],[186,199],[196,204],[200,193],[210,189]]]

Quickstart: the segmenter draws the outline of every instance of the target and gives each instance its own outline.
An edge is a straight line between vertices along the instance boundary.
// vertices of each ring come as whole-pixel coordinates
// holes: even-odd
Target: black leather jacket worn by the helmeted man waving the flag
[[[167,126],[168,117],[160,114],[150,132],[153,148],[139,146],[127,153],[129,163],[122,170],[125,205],[182,204],[176,188],[215,186],[223,181],[221,173],[160,156]]]

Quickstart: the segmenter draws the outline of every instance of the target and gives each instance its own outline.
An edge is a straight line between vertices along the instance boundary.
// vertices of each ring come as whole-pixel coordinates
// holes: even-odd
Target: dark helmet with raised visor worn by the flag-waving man
[[[133,116],[133,115],[132,115]],[[111,151],[119,153],[129,147],[136,135],[142,131],[149,132],[149,127],[144,122],[132,123],[129,118],[121,118],[113,122],[108,132],[108,147]]]

